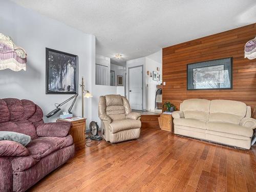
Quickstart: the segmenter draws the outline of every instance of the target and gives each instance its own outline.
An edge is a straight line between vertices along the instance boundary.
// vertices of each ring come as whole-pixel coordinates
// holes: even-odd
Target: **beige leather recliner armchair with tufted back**
[[[131,112],[129,101],[121,95],[105,95],[99,98],[101,133],[112,143],[137,139],[140,136],[141,114]]]

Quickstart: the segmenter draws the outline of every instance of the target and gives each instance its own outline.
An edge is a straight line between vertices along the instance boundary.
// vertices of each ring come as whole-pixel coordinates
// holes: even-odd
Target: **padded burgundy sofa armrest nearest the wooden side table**
[[[37,127],[39,137],[66,137],[72,124],[70,122],[44,123]]]

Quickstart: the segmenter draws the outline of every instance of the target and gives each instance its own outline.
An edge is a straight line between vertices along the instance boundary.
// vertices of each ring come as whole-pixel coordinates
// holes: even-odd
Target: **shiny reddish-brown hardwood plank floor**
[[[256,191],[256,148],[238,150],[142,129],[86,147],[30,191]]]

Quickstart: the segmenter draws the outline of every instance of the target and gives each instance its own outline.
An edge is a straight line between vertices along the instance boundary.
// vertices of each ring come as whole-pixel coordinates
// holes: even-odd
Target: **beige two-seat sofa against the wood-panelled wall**
[[[175,134],[246,149],[256,128],[250,106],[240,101],[187,99],[172,116]]]

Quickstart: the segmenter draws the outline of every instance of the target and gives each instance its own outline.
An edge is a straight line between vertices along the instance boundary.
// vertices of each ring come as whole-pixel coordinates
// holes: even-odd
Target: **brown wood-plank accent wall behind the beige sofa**
[[[189,98],[230,99],[256,106],[256,59],[244,58],[246,42],[256,35],[256,24],[183,42],[163,49],[163,102],[179,109]],[[233,57],[232,90],[187,90],[187,64]]]

